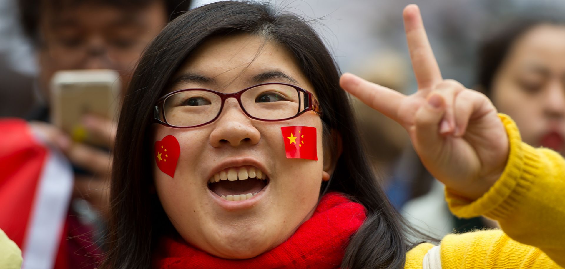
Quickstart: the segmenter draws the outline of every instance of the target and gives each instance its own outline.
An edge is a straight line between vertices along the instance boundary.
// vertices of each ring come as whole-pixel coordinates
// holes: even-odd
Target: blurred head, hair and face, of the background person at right
[[[513,20],[480,45],[477,89],[524,142],[565,154],[565,20]]]

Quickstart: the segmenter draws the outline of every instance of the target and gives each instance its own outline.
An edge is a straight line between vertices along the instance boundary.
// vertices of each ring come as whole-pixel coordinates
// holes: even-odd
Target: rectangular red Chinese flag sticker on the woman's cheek
[[[281,131],[286,158],[318,160],[316,127],[285,126]]]

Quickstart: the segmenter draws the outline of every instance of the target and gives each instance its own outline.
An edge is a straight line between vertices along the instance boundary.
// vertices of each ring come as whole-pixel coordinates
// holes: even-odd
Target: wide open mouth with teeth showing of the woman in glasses
[[[224,169],[208,180],[208,189],[228,201],[251,199],[269,184],[263,171],[254,166]]]

